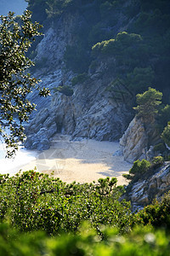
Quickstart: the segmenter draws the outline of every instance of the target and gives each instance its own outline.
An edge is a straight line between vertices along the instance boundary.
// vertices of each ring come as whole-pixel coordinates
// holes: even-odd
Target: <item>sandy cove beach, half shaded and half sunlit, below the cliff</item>
[[[99,177],[116,177],[118,185],[125,184],[123,173],[128,173],[131,164],[123,160],[119,153],[119,143],[98,142],[84,139],[71,141],[71,137],[58,134],[51,148],[44,150],[21,170],[52,173],[63,182],[90,183]]]

